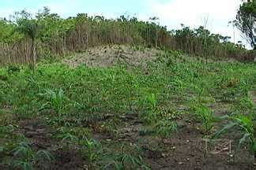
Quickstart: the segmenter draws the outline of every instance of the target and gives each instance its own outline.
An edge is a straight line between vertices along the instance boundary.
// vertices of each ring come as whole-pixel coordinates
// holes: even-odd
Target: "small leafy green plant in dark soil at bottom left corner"
[[[46,150],[34,152],[28,142],[20,142],[16,148],[12,150],[13,156],[17,160],[13,161],[14,168],[23,170],[32,170],[36,163],[45,166],[46,162],[51,162],[53,156]]]

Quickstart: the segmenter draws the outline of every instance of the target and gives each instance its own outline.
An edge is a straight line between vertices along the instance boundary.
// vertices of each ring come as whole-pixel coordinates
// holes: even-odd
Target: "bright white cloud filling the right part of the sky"
[[[171,0],[164,2],[150,0],[149,3],[151,13],[160,17],[160,23],[167,25],[169,29],[181,28],[180,24],[198,28],[204,25],[205,18],[208,18],[206,28],[213,33],[231,36],[232,42],[243,40],[236,28],[233,29],[232,25],[228,26],[228,21],[235,19],[241,0]]]

